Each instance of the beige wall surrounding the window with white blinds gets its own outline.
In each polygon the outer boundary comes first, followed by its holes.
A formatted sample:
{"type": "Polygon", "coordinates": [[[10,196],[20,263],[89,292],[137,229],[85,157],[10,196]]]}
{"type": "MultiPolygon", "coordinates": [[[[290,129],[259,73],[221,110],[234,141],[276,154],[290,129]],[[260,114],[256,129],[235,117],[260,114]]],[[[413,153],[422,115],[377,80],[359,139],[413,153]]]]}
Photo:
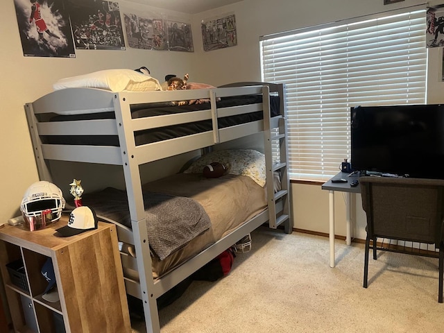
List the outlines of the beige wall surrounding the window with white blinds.
{"type": "MultiPolygon", "coordinates": [[[[440,1],[429,1],[433,4],[440,1]]],[[[384,6],[383,0],[244,0],[219,10],[194,15],[194,27],[217,15],[234,12],[236,15],[238,45],[227,49],[204,52],[202,41],[195,38],[198,53],[194,68],[200,78],[219,85],[229,81],[260,80],[259,37],[306,26],[336,22],[352,17],[372,15],[424,3],[406,0],[384,6]],[[254,7],[253,7],[254,6],[254,7]],[[253,9],[254,8],[254,9],[253,9]]],[[[442,3],[442,1],[441,1],[442,3]]],[[[425,8],[425,6],[424,6],[425,8]]],[[[195,33],[196,35],[196,33],[195,33]]],[[[441,82],[443,49],[429,49],[427,102],[444,103],[444,83],[441,82]]],[[[319,185],[291,185],[295,228],[328,233],[328,192],[319,185]]],[[[336,234],[345,235],[345,200],[343,194],[335,195],[336,234]]],[[[352,200],[354,237],[365,239],[365,213],[361,196],[352,200]]],[[[326,258],[327,259],[327,258],[326,258]]]]}

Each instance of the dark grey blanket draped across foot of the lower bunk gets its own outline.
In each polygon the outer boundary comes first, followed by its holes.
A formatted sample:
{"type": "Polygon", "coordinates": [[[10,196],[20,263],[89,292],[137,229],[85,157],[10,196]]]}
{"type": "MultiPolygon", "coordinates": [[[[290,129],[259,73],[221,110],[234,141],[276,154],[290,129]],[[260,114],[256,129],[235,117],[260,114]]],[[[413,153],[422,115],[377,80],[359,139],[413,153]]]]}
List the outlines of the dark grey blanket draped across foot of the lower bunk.
{"type": "MultiPolygon", "coordinates": [[[[82,202],[94,208],[96,214],[131,228],[126,191],[108,187],[83,195],[82,202]]],[[[144,203],[148,241],[160,260],[211,226],[210,217],[194,199],[144,191],[144,203]]]]}

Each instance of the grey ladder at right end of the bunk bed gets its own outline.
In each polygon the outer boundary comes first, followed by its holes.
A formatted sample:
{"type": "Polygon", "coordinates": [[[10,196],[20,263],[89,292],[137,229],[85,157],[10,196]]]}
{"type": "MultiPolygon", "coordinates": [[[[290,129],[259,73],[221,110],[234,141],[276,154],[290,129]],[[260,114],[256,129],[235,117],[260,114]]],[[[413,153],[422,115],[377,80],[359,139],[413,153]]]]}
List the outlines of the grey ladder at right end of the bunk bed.
{"type": "MultiPolygon", "coordinates": [[[[263,96],[269,94],[269,88],[263,87],[263,96]]],[[[285,96],[282,86],[280,96],[285,96]]],[[[291,234],[293,220],[290,216],[290,182],[287,169],[287,119],[285,101],[280,101],[280,116],[271,118],[270,99],[264,99],[264,151],[266,164],[266,183],[274,183],[274,174],[280,175],[281,188],[274,191],[273,185],[266,187],[268,201],[268,225],[276,229],[284,226],[284,231],[291,234]]]]}

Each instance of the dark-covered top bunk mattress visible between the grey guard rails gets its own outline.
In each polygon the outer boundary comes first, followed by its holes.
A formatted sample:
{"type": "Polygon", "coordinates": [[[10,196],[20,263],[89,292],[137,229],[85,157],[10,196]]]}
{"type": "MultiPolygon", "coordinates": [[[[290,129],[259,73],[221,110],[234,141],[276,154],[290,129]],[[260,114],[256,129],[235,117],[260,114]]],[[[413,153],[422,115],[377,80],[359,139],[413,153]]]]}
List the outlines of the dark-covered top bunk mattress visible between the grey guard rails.
{"type": "MultiPolygon", "coordinates": [[[[279,96],[270,96],[271,117],[276,117],[280,112],[279,96]]],[[[222,97],[216,102],[218,110],[223,108],[232,108],[240,105],[254,105],[262,103],[262,95],[230,96],[222,97]]],[[[130,112],[132,119],[157,117],[162,115],[183,114],[200,110],[209,110],[210,103],[174,105],[173,102],[159,103],[139,103],[131,104],[130,112]]],[[[47,115],[45,116],[47,117],[47,115]]],[[[60,115],[52,114],[49,121],[89,121],[99,119],[115,119],[114,111],[60,115]]],[[[230,126],[249,123],[263,119],[262,111],[254,111],[243,114],[234,114],[229,117],[219,117],[218,127],[227,128],[230,126]]],[[[80,126],[80,125],[79,125],[80,126]]],[[[148,130],[138,130],[135,132],[136,146],[151,144],[167,139],[184,137],[196,133],[204,133],[213,129],[212,120],[196,121],[192,123],[181,123],[179,125],[164,126],[148,130]]],[[[44,144],[71,144],[71,145],[90,145],[90,146],[119,146],[119,137],[117,135],[42,135],[40,136],[44,144]]]]}

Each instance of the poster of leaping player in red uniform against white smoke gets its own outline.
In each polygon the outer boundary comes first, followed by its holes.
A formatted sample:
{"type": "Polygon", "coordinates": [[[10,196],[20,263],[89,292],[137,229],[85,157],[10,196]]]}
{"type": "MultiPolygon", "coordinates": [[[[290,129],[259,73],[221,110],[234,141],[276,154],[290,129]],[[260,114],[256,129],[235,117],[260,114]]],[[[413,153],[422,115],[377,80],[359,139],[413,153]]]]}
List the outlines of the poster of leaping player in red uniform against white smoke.
{"type": "Polygon", "coordinates": [[[14,0],[24,56],[75,58],[62,0],[14,0]]]}

